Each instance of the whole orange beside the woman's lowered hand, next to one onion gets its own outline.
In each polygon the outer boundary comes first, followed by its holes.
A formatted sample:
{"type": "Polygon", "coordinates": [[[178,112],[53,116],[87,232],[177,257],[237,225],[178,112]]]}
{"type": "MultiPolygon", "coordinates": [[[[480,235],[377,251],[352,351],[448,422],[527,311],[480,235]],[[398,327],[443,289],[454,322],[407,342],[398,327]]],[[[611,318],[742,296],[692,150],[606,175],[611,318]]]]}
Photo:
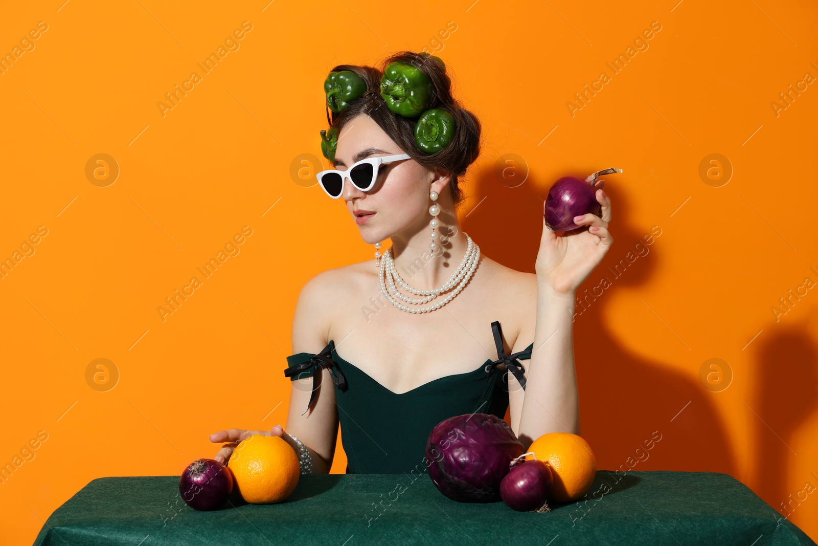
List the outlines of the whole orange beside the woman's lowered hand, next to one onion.
{"type": "Polygon", "coordinates": [[[242,440],[227,461],[241,498],[248,503],[278,503],[299,483],[295,450],[279,436],[254,434],[242,440]]]}

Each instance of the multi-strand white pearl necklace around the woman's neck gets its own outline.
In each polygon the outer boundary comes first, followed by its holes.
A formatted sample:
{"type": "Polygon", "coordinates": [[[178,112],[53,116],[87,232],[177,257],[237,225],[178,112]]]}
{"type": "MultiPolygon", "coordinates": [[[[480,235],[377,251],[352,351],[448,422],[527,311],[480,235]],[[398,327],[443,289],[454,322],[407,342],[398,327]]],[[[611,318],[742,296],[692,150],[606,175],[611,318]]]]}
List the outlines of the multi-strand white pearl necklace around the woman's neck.
{"type": "Polygon", "coordinates": [[[452,273],[452,277],[449,278],[447,282],[443,283],[443,286],[440,288],[432,289],[432,290],[418,290],[415,287],[410,287],[409,284],[404,281],[400,275],[398,275],[398,271],[395,269],[395,262],[392,257],[392,249],[386,250],[384,252],[384,256],[380,259],[380,273],[379,273],[379,280],[380,280],[380,291],[384,293],[386,299],[389,302],[401,309],[402,311],[407,311],[407,313],[429,313],[429,311],[434,311],[435,309],[440,309],[443,305],[446,305],[452,298],[457,296],[463,287],[465,287],[466,283],[469,282],[469,279],[474,274],[474,270],[477,268],[477,264],[480,259],[480,247],[477,246],[474,241],[472,241],[471,237],[467,233],[463,233],[465,235],[465,239],[467,242],[465,255],[463,256],[463,260],[461,264],[457,267],[456,271],[452,273]],[[385,279],[385,280],[384,280],[385,279]],[[424,296],[422,298],[411,298],[409,296],[403,295],[401,292],[398,291],[398,288],[395,287],[395,282],[405,288],[408,291],[411,291],[412,294],[416,296],[424,296]],[[393,292],[395,296],[398,296],[403,301],[406,301],[410,304],[425,304],[431,300],[434,300],[436,297],[440,296],[441,292],[448,291],[455,288],[451,294],[446,296],[443,301],[440,301],[435,304],[427,305],[426,307],[409,307],[408,305],[403,305],[398,300],[395,300],[390,294],[389,291],[386,289],[386,285],[389,283],[389,290],[393,292]]]}

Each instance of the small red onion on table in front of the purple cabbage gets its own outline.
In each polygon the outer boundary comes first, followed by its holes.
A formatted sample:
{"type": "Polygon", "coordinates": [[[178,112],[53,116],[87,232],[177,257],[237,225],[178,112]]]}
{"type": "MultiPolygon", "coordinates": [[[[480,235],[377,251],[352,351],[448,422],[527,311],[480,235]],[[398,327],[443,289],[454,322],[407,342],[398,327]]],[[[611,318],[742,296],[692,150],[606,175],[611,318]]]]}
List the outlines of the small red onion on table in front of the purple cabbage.
{"type": "MultiPolygon", "coordinates": [[[[525,457],[528,453],[520,455],[525,457]]],[[[511,462],[515,465],[519,458],[511,462]]],[[[551,467],[536,458],[512,466],[500,482],[500,496],[510,508],[520,512],[533,510],[550,512],[546,501],[551,497],[551,467]]]]}

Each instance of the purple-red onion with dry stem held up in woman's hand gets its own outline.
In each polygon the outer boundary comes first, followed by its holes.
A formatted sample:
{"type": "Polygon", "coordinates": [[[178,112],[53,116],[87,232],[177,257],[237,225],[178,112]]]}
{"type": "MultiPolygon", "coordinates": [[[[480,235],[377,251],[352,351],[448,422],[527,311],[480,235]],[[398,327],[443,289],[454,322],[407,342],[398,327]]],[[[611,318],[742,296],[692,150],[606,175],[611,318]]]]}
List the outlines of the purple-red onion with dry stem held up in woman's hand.
{"type": "Polygon", "coordinates": [[[602,213],[602,205],[596,201],[594,183],[603,174],[621,173],[622,169],[605,169],[591,174],[585,180],[565,176],[557,180],[548,190],[546,202],[543,205],[543,214],[546,224],[555,232],[569,231],[578,228],[573,223],[574,216],[582,214],[602,213]]]}

